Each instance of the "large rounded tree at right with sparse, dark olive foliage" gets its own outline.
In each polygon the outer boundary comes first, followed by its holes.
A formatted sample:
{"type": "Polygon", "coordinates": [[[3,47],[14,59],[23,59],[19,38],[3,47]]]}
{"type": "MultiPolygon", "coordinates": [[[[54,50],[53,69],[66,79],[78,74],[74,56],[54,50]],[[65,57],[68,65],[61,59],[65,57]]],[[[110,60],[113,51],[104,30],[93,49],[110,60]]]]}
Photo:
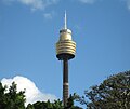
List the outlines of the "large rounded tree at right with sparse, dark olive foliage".
{"type": "Polygon", "coordinates": [[[86,104],[88,109],[130,109],[130,71],[110,76],[84,95],[78,97],[78,101],[86,104]]]}

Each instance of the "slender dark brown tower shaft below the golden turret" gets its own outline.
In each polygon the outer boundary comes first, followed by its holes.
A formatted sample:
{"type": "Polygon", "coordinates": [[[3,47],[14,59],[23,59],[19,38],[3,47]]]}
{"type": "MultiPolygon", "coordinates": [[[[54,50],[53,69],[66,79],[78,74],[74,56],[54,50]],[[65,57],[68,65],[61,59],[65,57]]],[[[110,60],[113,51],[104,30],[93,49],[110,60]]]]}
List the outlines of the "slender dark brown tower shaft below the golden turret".
{"type": "Polygon", "coordinates": [[[68,59],[63,60],[63,105],[67,106],[67,99],[68,99],[68,59]]]}

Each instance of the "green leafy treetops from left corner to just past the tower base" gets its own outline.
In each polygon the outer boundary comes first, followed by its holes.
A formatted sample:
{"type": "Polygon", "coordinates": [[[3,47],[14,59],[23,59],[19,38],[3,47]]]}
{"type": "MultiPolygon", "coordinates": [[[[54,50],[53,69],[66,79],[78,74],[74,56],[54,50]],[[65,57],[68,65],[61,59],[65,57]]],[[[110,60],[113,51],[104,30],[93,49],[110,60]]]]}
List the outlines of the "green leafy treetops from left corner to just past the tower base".
{"type": "Polygon", "coordinates": [[[48,101],[37,101],[35,104],[28,104],[25,107],[25,91],[17,92],[16,84],[13,82],[9,87],[3,86],[0,82],[0,109],[82,109],[78,106],[74,106],[74,97],[68,98],[67,107],[63,107],[60,99],[53,103],[48,101]]]}

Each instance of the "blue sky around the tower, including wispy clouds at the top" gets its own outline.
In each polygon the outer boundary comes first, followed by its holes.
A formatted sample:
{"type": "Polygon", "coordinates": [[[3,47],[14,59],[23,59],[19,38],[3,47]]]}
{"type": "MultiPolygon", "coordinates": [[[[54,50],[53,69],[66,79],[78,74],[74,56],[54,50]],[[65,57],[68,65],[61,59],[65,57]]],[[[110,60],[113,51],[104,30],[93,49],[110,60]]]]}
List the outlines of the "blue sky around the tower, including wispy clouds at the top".
{"type": "Polygon", "coordinates": [[[55,43],[65,10],[77,43],[70,93],[82,95],[108,76],[130,70],[130,0],[0,0],[0,79],[26,77],[62,98],[55,43]]]}

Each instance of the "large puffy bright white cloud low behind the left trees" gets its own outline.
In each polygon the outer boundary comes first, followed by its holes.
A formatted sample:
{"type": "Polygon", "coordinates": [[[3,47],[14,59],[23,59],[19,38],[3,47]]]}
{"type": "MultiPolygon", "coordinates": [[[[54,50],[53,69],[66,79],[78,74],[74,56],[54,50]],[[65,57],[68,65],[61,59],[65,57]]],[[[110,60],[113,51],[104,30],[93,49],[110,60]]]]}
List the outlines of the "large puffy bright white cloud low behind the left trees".
{"type": "Polygon", "coordinates": [[[51,101],[53,101],[54,99],[57,99],[55,95],[40,92],[40,90],[35,85],[35,83],[25,77],[16,76],[13,79],[3,78],[1,80],[1,83],[3,85],[8,85],[8,87],[11,86],[12,82],[15,82],[17,84],[17,92],[25,90],[25,105],[29,103],[34,104],[38,100],[47,101],[48,99],[50,99],[51,101]]]}

